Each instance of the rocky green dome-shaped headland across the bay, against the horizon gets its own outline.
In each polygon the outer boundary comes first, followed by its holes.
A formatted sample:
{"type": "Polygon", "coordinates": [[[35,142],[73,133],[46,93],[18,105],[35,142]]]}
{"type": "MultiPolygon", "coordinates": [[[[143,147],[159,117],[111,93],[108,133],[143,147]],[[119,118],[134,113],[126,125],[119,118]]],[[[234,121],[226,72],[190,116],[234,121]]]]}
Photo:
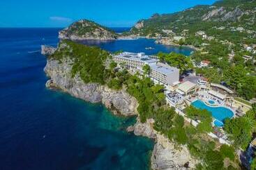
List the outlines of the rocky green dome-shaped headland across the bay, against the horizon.
{"type": "Polygon", "coordinates": [[[63,40],[114,40],[116,33],[95,22],[83,19],[60,31],[59,38],[63,40]]]}

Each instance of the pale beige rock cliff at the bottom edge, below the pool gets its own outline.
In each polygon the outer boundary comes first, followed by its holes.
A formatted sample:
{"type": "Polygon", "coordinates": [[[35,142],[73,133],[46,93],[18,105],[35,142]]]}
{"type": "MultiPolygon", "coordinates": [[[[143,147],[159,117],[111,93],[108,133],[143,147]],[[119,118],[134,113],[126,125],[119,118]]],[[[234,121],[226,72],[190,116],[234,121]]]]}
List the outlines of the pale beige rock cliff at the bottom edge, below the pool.
{"type": "Polygon", "coordinates": [[[151,155],[151,169],[153,170],[183,170],[195,169],[197,160],[193,159],[186,146],[175,146],[167,137],[153,130],[153,119],[142,124],[140,120],[134,126],[128,127],[128,132],[135,135],[155,139],[156,144],[151,155]]]}

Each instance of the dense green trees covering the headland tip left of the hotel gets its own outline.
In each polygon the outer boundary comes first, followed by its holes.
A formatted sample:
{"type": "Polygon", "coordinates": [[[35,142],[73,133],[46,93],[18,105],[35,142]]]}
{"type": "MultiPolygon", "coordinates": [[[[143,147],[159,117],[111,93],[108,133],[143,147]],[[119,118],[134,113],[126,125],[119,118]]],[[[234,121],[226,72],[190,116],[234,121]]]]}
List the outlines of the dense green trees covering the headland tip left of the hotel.
{"type": "Polygon", "coordinates": [[[96,46],[84,46],[65,40],[49,58],[62,61],[66,56],[74,63],[71,74],[73,76],[78,74],[84,83],[104,84],[110,74],[110,71],[105,68],[105,60],[110,57],[110,54],[96,46]]]}

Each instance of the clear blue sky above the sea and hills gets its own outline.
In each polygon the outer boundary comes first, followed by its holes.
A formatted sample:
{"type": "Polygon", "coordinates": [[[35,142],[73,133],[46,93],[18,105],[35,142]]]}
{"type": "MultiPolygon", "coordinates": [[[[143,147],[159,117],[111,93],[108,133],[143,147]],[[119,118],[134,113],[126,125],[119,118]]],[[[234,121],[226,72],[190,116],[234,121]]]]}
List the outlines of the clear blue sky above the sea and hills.
{"type": "Polygon", "coordinates": [[[1,0],[0,27],[65,27],[78,19],[133,26],[153,13],[172,13],[216,0],[1,0]]]}

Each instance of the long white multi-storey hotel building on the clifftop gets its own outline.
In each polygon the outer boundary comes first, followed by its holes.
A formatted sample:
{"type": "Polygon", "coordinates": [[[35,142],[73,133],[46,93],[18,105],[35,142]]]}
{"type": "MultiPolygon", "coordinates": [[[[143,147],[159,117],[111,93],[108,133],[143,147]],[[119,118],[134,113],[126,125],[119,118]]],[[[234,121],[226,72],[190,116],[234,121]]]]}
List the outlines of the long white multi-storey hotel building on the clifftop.
{"type": "Polygon", "coordinates": [[[131,71],[142,73],[144,65],[151,67],[149,76],[157,83],[164,85],[175,85],[179,83],[179,69],[170,67],[156,58],[156,56],[146,56],[145,53],[123,52],[113,56],[114,62],[124,65],[131,71]]]}

